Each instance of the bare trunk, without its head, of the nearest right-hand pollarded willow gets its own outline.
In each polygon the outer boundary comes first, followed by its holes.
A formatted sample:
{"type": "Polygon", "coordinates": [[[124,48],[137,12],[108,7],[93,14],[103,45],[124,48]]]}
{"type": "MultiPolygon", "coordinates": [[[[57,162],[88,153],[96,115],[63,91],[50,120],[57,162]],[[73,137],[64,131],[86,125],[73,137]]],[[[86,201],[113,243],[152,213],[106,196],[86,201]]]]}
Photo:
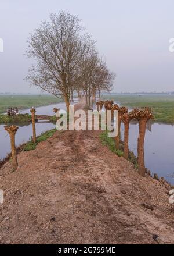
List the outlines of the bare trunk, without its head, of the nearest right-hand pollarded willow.
{"type": "Polygon", "coordinates": [[[145,175],[145,163],[144,163],[144,137],[146,133],[146,123],[147,119],[139,120],[139,138],[137,145],[137,154],[138,154],[138,166],[139,166],[139,174],[145,175]]]}

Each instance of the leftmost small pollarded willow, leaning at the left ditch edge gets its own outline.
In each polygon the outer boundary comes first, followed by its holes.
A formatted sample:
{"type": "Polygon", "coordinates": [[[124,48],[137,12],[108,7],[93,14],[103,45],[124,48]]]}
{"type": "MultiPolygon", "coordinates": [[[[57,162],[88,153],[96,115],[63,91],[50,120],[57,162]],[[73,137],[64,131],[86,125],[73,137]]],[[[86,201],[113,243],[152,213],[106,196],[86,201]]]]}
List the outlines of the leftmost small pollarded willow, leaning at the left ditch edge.
{"type": "Polygon", "coordinates": [[[15,146],[15,134],[19,127],[16,125],[12,126],[4,126],[5,130],[8,132],[10,136],[10,143],[12,148],[12,158],[13,158],[13,171],[17,169],[17,156],[16,156],[16,146],[15,146]]]}

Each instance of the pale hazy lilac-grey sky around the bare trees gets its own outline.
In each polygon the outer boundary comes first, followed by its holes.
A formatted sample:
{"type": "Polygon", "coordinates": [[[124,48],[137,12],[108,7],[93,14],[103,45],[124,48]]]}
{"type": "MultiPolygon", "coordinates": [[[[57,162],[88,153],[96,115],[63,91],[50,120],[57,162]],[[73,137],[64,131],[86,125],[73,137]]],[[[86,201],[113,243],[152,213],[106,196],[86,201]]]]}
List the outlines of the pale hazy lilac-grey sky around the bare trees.
{"type": "Polygon", "coordinates": [[[0,0],[0,92],[36,93],[24,77],[28,34],[49,13],[82,19],[107,66],[117,74],[113,91],[174,91],[173,0],[0,0]]]}

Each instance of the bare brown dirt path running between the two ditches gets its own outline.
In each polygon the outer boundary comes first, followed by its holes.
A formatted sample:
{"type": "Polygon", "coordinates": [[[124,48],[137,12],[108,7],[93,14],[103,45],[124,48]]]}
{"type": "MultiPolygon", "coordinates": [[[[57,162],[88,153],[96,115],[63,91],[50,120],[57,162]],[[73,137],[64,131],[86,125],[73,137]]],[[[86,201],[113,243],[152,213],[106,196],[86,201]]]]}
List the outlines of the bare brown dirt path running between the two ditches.
{"type": "Polygon", "coordinates": [[[110,152],[98,131],[57,131],[18,161],[16,172],[10,162],[0,170],[1,244],[151,244],[154,234],[174,243],[168,190],[110,152]]]}

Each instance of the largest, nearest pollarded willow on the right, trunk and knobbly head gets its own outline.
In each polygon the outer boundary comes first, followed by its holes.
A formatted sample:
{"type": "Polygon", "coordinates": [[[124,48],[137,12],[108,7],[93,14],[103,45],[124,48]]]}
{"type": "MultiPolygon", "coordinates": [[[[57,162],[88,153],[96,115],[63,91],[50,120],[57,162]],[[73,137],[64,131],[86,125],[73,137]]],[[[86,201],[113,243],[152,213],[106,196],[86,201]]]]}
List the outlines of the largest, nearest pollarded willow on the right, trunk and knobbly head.
{"type": "Polygon", "coordinates": [[[138,154],[138,166],[139,174],[145,175],[145,163],[144,163],[144,138],[146,134],[146,124],[149,119],[153,119],[153,113],[151,108],[133,109],[132,111],[135,118],[139,121],[139,137],[137,143],[138,154]]]}

